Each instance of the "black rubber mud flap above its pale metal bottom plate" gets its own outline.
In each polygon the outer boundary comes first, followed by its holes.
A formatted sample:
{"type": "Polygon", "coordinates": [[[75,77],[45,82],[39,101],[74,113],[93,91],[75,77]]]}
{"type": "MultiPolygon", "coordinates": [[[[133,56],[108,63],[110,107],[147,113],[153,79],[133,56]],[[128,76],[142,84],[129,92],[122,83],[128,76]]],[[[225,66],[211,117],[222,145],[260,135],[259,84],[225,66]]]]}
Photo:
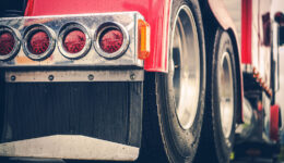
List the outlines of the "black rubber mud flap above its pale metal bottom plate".
{"type": "Polygon", "coordinates": [[[1,143],[83,135],[140,147],[142,82],[2,83],[1,143]]]}

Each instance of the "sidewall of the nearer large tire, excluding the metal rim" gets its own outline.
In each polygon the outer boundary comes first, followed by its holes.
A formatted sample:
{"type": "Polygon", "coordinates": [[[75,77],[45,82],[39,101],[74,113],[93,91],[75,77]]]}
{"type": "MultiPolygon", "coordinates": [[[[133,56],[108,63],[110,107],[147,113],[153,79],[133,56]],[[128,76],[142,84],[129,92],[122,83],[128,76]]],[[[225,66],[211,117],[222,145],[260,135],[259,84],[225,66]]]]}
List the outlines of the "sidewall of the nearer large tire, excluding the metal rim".
{"type": "MultiPolygon", "coordinates": [[[[197,32],[198,32],[198,40],[199,40],[199,49],[200,49],[200,71],[202,72],[200,76],[200,96],[198,101],[198,111],[196,115],[196,120],[192,126],[189,129],[184,129],[176,114],[176,102],[175,102],[175,90],[173,87],[171,75],[173,72],[168,72],[168,74],[162,74],[157,76],[157,93],[164,93],[165,99],[161,99],[162,106],[158,109],[161,113],[161,125],[164,128],[162,130],[162,135],[164,135],[164,143],[166,148],[167,155],[169,155],[169,160],[171,162],[185,162],[192,161],[197,151],[203,112],[204,112],[204,98],[205,98],[205,48],[204,48],[204,34],[203,34],[203,25],[201,18],[201,11],[199,9],[198,1],[185,1],[185,0],[174,0],[171,8],[171,18],[170,18],[170,32],[169,32],[169,40],[171,40],[171,33],[174,29],[175,17],[180,7],[188,5],[191,10],[191,13],[196,21],[197,32]]],[[[168,70],[171,70],[173,66],[170,64],[171,60],[171,41],[169,41],[168,46],[168,70]]]]}

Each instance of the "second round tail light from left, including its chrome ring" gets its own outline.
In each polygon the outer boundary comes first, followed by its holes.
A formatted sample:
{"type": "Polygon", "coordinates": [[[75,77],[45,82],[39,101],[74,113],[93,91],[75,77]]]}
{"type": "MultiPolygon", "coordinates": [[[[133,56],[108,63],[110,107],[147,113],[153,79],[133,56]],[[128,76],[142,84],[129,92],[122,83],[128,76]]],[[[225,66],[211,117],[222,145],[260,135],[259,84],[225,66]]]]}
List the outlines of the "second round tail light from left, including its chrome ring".
{"type": "Polygon", "coordinates": [[[55,50],[55,34],[44,25],[34,25],[24,35],[25,54],[36,61],[47,59],[55,50]]]}

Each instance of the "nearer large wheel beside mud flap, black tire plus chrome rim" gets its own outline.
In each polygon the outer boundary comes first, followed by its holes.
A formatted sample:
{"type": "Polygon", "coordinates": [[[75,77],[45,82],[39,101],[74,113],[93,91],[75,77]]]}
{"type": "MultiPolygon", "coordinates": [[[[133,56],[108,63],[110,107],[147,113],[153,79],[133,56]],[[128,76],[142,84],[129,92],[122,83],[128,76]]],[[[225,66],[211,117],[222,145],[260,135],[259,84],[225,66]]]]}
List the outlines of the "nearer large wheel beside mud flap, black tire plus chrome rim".
{"type": "Polygon", "coordinates": [[[147,153],[143,156],[147,161],[140,162],[182,163],[194,158],[205,98],[201,22],[198,1],[174,0],[168,73],[145,77],[141,155],[147,153]],[[155,84],[154,88],[151,84],[155,84]],[[154,99],[155,104],[151,105],[154,99]]]}

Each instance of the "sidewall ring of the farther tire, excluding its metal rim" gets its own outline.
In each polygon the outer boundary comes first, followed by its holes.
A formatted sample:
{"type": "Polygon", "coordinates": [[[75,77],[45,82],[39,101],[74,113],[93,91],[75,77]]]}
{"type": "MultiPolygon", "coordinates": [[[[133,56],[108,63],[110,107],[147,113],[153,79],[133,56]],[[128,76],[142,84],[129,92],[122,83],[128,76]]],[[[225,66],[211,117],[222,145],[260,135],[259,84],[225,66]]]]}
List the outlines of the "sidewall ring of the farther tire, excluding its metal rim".
{"type": "Polygon", "coordinates": [[[216,33],[214,41],[214,51],[213,51],[213,70],[212,70],[212,120],[213,120],[213,134],[215,141],[215,150],[217,159],[220,162],[227,163],[229,162],[230,152],[233,150],[233,145],[235,140],[235,124],[236,124],[236,109],[237,109],[237,80],[236,80],[236,63],[234,57],[233,43],[229,38],[229,35],[218,29],[216,33]],[[227,51],[229,53],[229,59],[232,63],[232,75],[233,75],[233,90],[234,90],[234,116],[232,124],[232,131],[228,138],[223,134],[222,123],[221,123],[221,106],[220,106],[220,93],[217,82],[217,75],[220,72],[220,62],[222,61],[223,53],[227,51]]]}

